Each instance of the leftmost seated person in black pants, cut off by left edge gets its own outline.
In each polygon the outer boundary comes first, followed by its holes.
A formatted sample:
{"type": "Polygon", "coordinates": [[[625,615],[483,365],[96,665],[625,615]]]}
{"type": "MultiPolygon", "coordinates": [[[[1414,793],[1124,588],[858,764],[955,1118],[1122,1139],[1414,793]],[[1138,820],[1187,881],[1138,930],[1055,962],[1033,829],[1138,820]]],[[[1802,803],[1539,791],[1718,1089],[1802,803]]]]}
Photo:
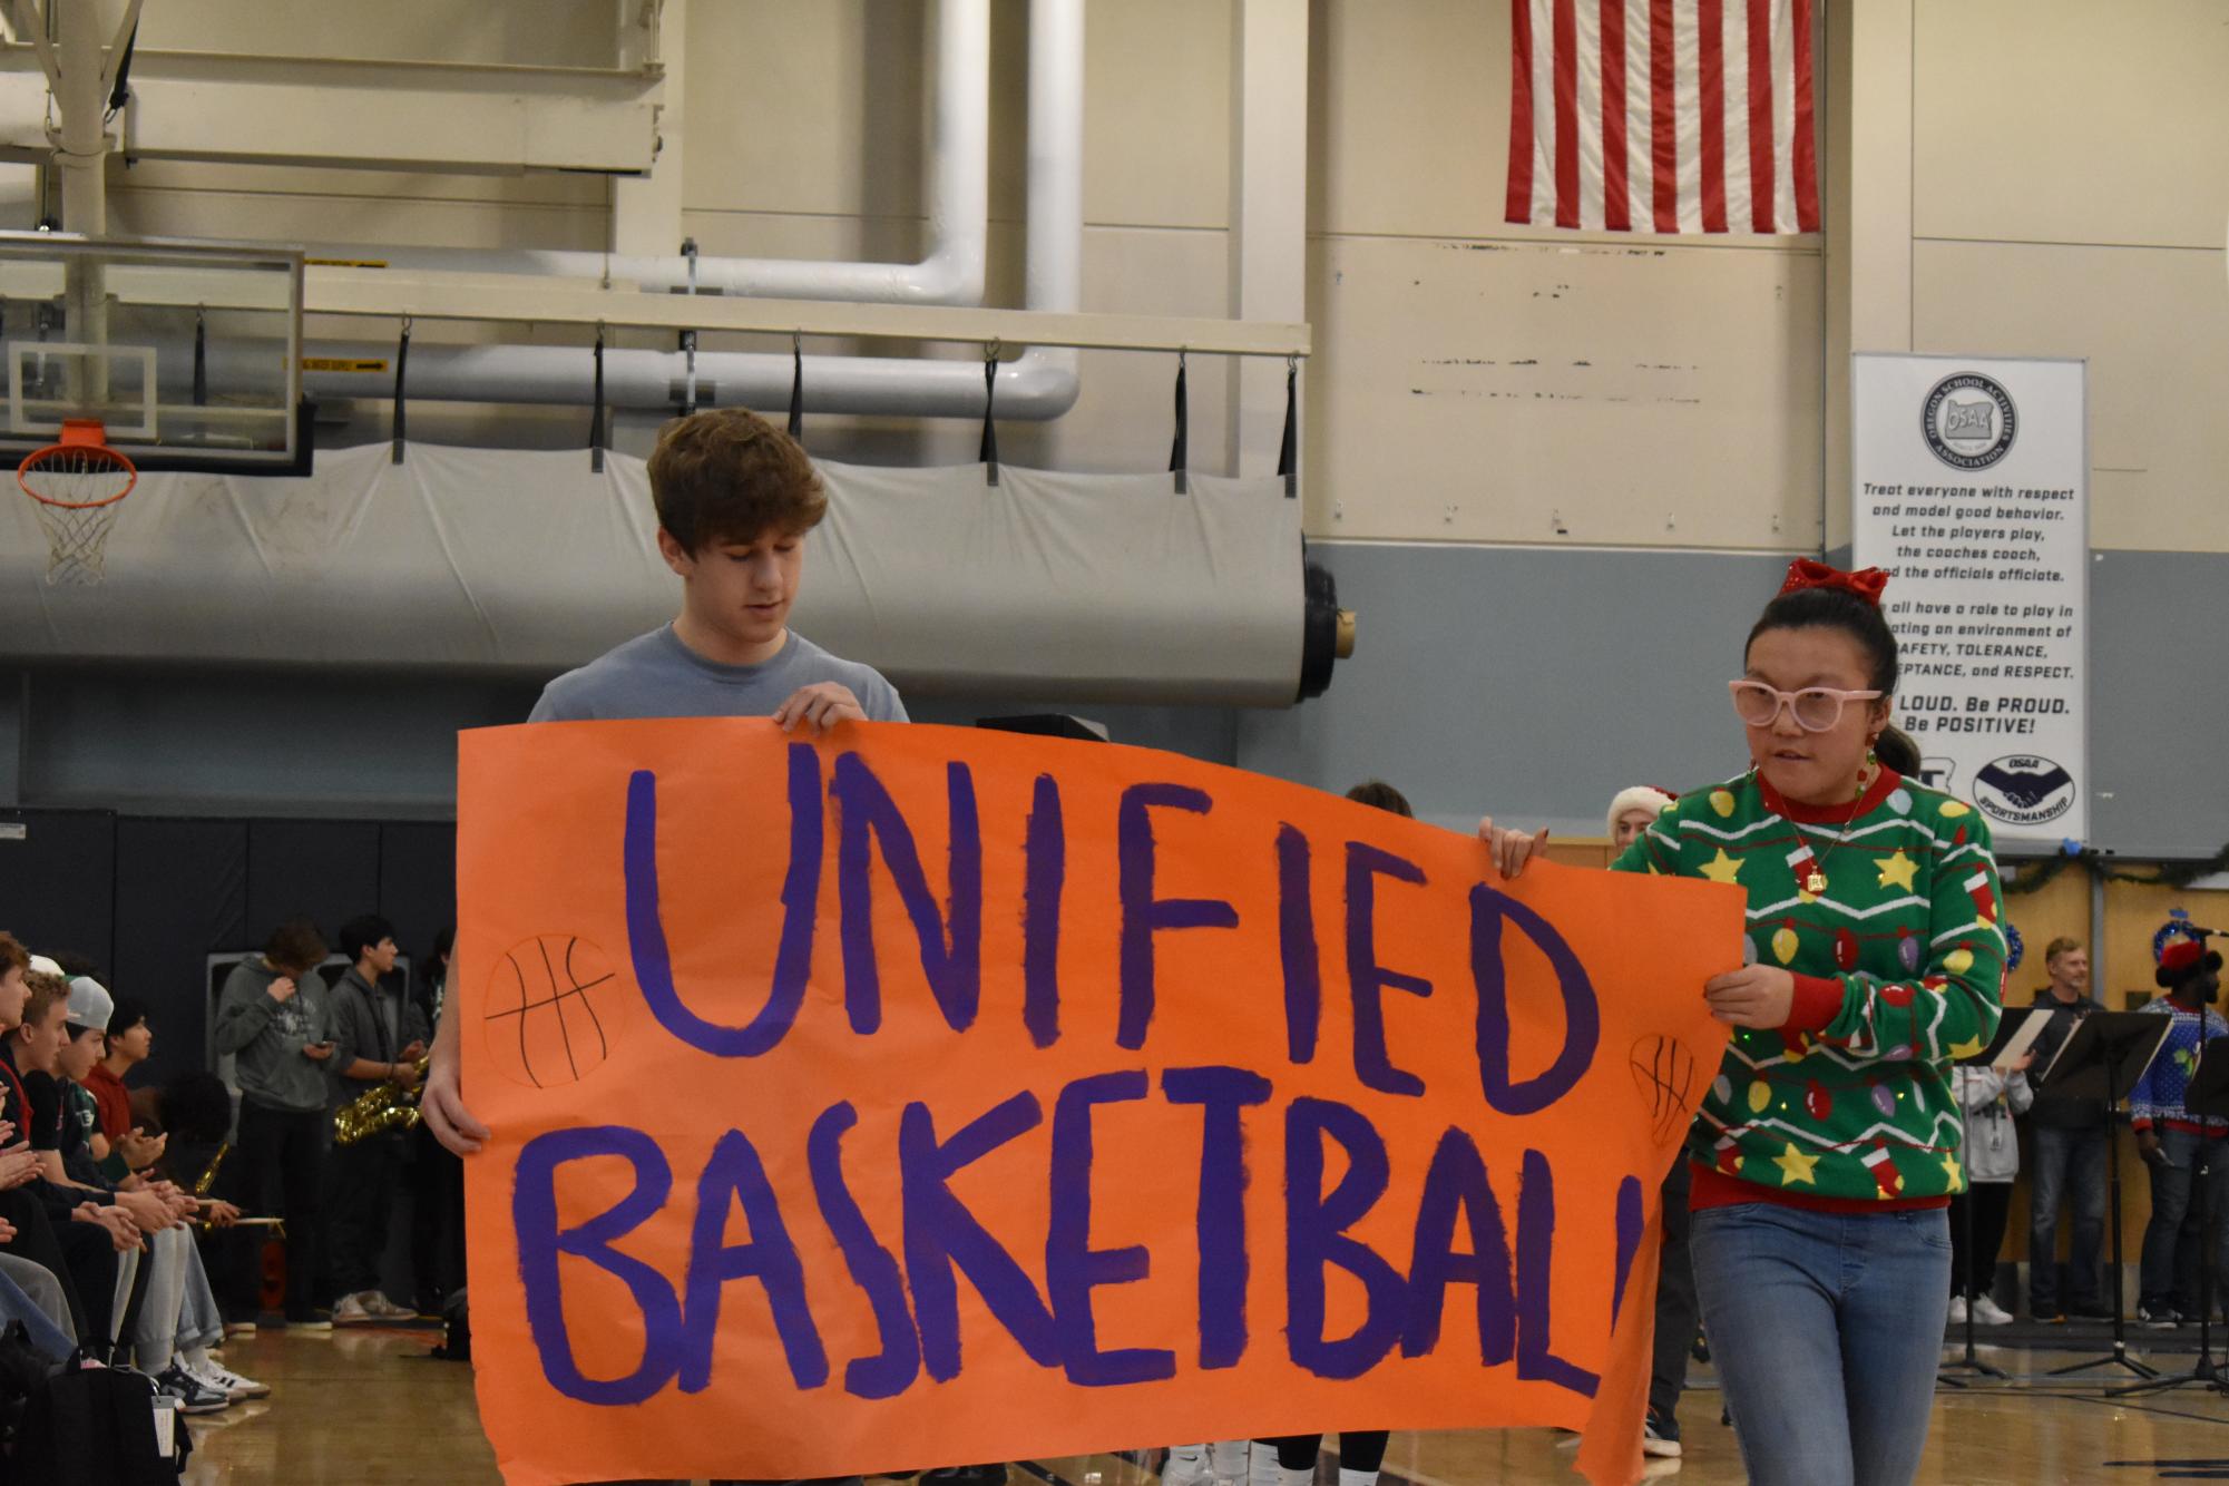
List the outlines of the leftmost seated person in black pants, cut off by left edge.
{"type": "MultiPolygon", "coordinates": [[[[132,1281],[138,1277],[138,1223],[118,1208],[47,1181],[47,1152],[60,1143],[60,1101],[31,1107],[31,1081],[40,1063],[51,1063],[62,1036],[67,987],[51,971],[25,974],[33,960],[13,938],[0,936],[0,1125],[11,1138],[29,1138],[29,1150],[0,1156],[9,1187],[0,1203],[13,1236],[9,1252],[53,1272],[78,1339],[96,1357],[116,1341],[132,1281]],[[18,1170],[29,1163],[29,1170],[18,1170]]],[[[47,960],[51,965],[51,960],[47,960]]]]}

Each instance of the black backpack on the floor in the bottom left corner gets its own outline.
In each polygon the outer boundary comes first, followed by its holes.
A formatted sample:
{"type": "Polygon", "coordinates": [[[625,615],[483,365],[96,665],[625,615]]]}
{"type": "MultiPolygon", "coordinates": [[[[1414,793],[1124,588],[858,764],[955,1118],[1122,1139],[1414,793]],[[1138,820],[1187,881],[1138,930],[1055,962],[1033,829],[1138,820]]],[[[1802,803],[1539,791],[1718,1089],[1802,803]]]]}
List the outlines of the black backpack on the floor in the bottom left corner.
{"type": "Polygon", "coordinates": [[[156,1448],[154,1379],[71,1359],[25,1404],[16,1468],[42,1486],[172,1486],[192,1450],[172,1417],[172,1453],[156,1448]]]}

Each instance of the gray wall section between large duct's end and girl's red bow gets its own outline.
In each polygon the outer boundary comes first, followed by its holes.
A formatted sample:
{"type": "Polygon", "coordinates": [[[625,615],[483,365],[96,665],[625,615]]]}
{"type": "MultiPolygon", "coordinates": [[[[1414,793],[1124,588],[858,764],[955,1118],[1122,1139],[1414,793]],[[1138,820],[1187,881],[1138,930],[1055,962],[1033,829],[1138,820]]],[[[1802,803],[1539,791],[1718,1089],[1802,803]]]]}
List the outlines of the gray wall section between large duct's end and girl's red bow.
{"type": "Polygon", "coordinates": [[[1360,615],[1353,659],[1291,713],[1239,717],[1239,766],[1344,791],[1382,778],[1469,829],[1603,833],[1627,784],[1745,766],[1725,680],[1785,557],[1311,544],[1360,615]]]}

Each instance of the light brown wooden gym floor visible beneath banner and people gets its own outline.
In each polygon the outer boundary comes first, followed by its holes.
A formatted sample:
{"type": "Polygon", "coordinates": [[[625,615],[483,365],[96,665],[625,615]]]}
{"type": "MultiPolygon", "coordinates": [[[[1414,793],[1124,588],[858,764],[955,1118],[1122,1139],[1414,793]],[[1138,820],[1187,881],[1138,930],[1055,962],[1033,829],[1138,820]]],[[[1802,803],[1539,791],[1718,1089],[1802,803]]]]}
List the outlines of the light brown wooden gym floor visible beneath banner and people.
{"type": "MultiPolygon", "coordinates": [[[[272,1384],[272,1397],[192,1421],[192,1486],[218,1482],[424,1482],[495,1484],[495,1457],[479,1433],[468,1368],[428,1361],[430,1330],[350,1328],[332,1335],[263,1332],[234,1339],[225,1361],[272,1384]]],[[[2135,1348],[2158,1337],[2135,1332],[2135,1348]]],[[[2196,1339],[2153,1357],[2189,1368],[2196,1339]]],[[[2102,1348],[2097,1348],[2102,1350],[2102,1348]]],[[[1930,1486],[2035,1486],[2046,1482],[2229,1482],[2229,1399],[2196,1386],[2140,1399],[2106,1399],[2113,1370],[2044,1379],[2062,1361],[2097,1350],[1984,1348],[2015,1375],[1966,1392],[1941,1390],[1919,1482],[1930,1486]],[[2031,1381],[2033,1379],[2033,1381],[2031,1381]]],[[[2142,1355],[2142,1352],[2138,1352],[2142,1355]]],[[[1950,1357],[1950,1352],[1946,1352],[1950,1357]]],[[[1719,1395],[1707,1368],[1681,1404],[1687,1455],[1656,1461],[1658,1475],[1692,1486],[1741,1482],[1732,1430],[1719,1426],[1719,1395]]],[[[1571,1455],[1551,1430],[1469,1430],[1395,1435],[1386,1486],[1502,1486],[1567,1482],[1571,1455]]],[[[1152,1486],[1126,1459],[1036,1461],[1012,1473],[1014,1486],[1152,1486]]],[[[1335,1479],[1335,1477],[1333,1477],[1335,1479]]]]}

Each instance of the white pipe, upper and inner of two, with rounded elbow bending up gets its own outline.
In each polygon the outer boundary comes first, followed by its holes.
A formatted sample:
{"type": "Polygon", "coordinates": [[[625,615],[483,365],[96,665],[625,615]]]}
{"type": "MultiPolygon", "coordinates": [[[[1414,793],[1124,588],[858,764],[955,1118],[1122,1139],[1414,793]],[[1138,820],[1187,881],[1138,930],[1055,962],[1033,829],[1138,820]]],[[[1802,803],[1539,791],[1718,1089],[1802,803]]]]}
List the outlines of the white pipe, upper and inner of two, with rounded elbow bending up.
{"type": "MultiPolygon", "coordinates": [[[[1081,45],[1079,29],[1079,51],[1081,45]]],[[[1077,71],[1081,76],[1081,67],[1077,71]]],[[[366,247],[363,243],[321,243],[308,252],[312,258],[379,258],[392,267],[450,274],[640,283],[653,292],[687,290],[693,283],[698,292],[756,299],[981,305],[990,241],[990,0],[941,0],[936,7],[936,107],[929,123],[927,198],[932,247],[921,263],[700,256],[691,270],[691,261],[682,254],[642,258],[533,247],[366,247]]]]}

